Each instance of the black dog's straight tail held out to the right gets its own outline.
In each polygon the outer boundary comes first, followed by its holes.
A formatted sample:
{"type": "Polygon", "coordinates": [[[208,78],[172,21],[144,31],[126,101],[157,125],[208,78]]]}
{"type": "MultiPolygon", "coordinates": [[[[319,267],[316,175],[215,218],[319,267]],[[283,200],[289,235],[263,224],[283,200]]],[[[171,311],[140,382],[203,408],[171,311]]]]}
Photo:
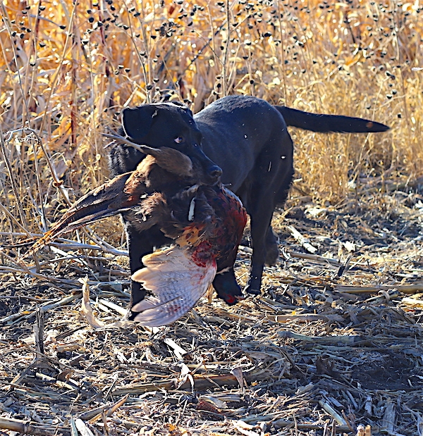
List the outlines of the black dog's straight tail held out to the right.
{"type": "Polygon", "coordinates": [[[386,132],[387,125],[364,118],[343,115],[326,115],[298,111],[286,106],[275,106],[282,114],[286,125],[312,132],[386,132]]]}

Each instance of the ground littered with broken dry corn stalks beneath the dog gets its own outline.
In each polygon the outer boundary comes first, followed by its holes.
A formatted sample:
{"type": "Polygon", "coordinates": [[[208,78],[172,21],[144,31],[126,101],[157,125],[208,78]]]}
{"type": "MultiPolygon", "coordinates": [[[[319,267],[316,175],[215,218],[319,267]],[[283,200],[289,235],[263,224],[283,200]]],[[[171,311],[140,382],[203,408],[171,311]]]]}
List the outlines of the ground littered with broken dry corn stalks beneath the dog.
{"type": "MultiPolygon", "coordinates": [[[[4,274],[0,435],[423,435],[419,188],[288,201],[262,296],[202,299],[166,328],[122,320],[123,256],[63,249],[40,278],[4,274]]],[[[241,282],[249,263],[246,237],[241,282]]]]}

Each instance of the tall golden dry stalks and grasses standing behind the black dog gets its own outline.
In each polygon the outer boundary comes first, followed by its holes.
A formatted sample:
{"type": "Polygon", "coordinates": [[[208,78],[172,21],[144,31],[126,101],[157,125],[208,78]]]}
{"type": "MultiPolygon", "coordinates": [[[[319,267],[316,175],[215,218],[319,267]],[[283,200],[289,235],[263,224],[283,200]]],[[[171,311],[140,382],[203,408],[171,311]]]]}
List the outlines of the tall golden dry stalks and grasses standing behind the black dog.
{"type": "Polygon", "coordinates": [[[100,134],[121,108],[164,94],[194,111],[253,94],[392,127],[293,132],[314,199],[342,200],[363,177],[422,175],[418,2],[5,0],[1,15],[0,230],[47,230],[108,176],[100,134]]]}

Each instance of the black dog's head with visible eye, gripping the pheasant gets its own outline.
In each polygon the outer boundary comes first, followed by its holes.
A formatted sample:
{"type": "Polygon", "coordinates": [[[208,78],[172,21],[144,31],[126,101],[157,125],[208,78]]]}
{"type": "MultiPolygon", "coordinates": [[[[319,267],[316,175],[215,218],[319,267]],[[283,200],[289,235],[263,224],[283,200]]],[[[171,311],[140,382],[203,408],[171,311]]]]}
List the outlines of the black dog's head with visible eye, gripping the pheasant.
{"type": "Polygon", "coordinates": [[[206,185],[218,182],[221,168],[202,151],[202,135],[192,118],[192,112],[183,104],[144,104],[137,108],[125,108],[122,114],[125,134],[137,144],[150,147],[169,147],[188,156],[194,166],[202,169],[206,185]]]}

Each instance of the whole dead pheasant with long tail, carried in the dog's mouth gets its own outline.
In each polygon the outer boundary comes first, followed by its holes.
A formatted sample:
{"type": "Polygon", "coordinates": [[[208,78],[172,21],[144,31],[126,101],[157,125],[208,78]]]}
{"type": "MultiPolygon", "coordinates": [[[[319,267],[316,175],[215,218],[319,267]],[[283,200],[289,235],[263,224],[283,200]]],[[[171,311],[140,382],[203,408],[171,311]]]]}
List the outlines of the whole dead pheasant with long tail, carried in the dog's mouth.
{"type": "MultiPolygon", "coordinates": [[[[173,247],[142,258],[133,274],[154,296],[131,310],[148,326],[173,323],[187,313],[214,280],[233,267],[247,215],[238,197],[223,187],[202,185],[202,170],[176,149],[144,147],[147,156],[135,171],[114,177],[85,194],[30,249],[95,220],[126,213],[137,228],[158,225],[173,247]]],[[[242,294],[218,293],[228,304],[242,294]]]]}

